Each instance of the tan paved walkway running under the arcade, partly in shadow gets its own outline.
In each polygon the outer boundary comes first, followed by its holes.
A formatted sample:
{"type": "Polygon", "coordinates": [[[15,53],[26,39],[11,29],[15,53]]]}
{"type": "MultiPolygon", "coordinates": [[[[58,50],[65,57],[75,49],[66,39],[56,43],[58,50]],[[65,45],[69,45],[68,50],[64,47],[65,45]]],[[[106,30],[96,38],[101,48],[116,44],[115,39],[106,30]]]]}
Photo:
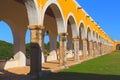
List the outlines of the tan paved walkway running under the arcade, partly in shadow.
{"type": "MultiPolygon", "coordinates": [[[[89,60],[88,58],[86,60],[89,60]]],[[[72,66],[75,64],[79,64],[85,60],[80,60],[79,62],[75,62],[73,58],[67,59],[67,66],[72,66]]],[[[50,70],[52,72],[60,71],[61,69],[65,69],[65,66],[60,66],[59,61],[48,61],[42,64],[42,70],[50,70]]],[[[26,67],[16,67],[8,70],[0,71],[0,80],[30,80],[26,79],[27,74],[30,72],[30,66],[26,67]]]]}

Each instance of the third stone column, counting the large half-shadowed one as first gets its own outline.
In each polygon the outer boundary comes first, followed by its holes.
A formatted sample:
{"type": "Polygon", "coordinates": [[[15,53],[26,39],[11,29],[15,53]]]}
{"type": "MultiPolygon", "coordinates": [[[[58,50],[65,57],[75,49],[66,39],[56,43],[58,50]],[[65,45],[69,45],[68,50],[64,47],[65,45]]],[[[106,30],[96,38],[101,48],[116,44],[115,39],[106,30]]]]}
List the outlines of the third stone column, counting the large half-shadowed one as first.
{"type": "Polygon", "coordinates": [[[79,37],[74,37],[74,60],[79,61],[79,37]]]}

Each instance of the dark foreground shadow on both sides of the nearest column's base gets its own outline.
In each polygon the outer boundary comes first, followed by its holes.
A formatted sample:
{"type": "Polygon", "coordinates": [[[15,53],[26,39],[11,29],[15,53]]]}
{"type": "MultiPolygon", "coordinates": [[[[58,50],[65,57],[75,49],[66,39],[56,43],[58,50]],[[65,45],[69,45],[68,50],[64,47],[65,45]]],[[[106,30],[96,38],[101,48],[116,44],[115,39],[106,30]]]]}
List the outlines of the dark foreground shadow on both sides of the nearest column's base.
{"type": "MultiPolygon", "coordinates": [[[[0,71],[0,80],[31,80],[27,75],[18,75],[0,71]]],[[[102,75],[91,73],[58,72],[50,73],[40,80],[120,80],[120,75],[102,75]]]]}

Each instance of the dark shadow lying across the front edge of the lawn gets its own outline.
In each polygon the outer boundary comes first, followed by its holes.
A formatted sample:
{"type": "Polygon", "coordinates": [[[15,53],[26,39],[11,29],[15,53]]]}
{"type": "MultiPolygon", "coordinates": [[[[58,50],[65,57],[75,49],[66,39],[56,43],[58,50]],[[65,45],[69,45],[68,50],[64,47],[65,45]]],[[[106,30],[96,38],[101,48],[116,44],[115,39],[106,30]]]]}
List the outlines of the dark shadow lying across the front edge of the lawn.
{"type": "Polygon", "coordinates": [[[59,72],[49,74],[41,80],[120,80],[120,75],[59,72]]]}

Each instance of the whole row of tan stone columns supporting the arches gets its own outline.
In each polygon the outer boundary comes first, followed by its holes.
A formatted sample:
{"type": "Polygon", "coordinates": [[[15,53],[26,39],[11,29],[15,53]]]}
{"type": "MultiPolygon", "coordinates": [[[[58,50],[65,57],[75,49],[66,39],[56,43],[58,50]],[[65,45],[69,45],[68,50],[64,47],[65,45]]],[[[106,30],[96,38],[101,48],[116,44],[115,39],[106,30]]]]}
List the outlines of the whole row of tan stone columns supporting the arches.
{"type": "MultiPolygon", "coordinates": [[[[31,70],[30,73],[34,76],[41,75],[41,46],[44,34],[44,27],[40,25],[30,25],[29,29],[31,31],[31,70]]],[[[66,50],[67,50],[67,33],[59,34],[60,37],[60,47],[59,47],[59,64],[60,66],[67,66],[66,63],[66,50]]],[[[93,40],[88,41],[87,39],[82,40],[83,50],[82,58],[79,56],[79,37],[74,37],[74,61],[79,62],[80,60],[85,60],[86,58],[94,58],[97,56],[104,55],[113,51],[113,46],[102,44],[101,42],[93,42],[93,40]],[[88,41],[88,43],[87,43],[88,41]],[[89,44],[89,47],[88,47],[89,44]],[[88,49],[87,49],[88,47],[88,49]]]]}

